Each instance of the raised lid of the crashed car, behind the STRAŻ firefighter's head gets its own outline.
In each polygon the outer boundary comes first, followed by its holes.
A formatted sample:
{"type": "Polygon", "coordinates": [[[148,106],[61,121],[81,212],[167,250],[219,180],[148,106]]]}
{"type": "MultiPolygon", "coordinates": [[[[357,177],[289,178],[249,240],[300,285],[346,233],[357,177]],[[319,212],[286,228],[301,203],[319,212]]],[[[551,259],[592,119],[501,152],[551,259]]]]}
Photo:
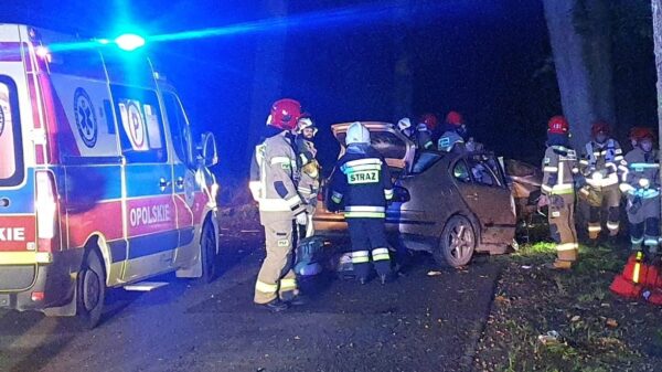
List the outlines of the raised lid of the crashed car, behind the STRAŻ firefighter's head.
{"type": "MultiPolygon", "coordinates": [[[[339,158],[345,152],[345,136],[352,123],[340,123],[331,126],[333,136],[340,144],[339,158]]],[[[370,130],[372,147],[380,151],[389,167],[409,170],[414,162],[414,142],[396,130],[391,123],[361,121],[361,124],[370,130]]]]}

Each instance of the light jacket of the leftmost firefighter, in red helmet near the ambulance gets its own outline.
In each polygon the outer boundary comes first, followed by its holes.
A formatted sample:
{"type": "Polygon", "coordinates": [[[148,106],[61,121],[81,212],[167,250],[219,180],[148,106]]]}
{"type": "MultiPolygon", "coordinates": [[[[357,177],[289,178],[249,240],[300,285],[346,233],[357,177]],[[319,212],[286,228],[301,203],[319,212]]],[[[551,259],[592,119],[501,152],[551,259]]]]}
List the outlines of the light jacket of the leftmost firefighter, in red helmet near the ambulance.
{"type": "Polygon", "coordinates": [[[259,203],[263,223],[292,220],[303,212],[297,191],[297,157],[287,131],[267,138],[255,148],[250,170],[250,193],[259,203]]]}

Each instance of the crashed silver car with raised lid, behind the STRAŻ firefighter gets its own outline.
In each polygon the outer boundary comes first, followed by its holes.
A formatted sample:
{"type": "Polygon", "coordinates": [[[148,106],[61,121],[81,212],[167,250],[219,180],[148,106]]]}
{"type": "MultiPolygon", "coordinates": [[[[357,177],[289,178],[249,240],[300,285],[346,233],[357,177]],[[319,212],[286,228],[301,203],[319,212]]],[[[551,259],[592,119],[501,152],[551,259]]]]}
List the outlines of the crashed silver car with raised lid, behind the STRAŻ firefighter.
{"type": "MultiPolygon", "coordinates": [[[[394,202],[386,212],[393,245],[428,251],[439,264],[453,267],[467,265],[474,252],[508,249],[515,235],[515,204],[499,159],[487,152],[418,152],[392,124],[363,124],[394,178],[394,202]]],[[[349,126],[332,126],[341,145],[339,158],[349,126]]],[[[324,208],[324,193],[313,216],[317,234],[346,234],[342,212],[324,208]]]]}

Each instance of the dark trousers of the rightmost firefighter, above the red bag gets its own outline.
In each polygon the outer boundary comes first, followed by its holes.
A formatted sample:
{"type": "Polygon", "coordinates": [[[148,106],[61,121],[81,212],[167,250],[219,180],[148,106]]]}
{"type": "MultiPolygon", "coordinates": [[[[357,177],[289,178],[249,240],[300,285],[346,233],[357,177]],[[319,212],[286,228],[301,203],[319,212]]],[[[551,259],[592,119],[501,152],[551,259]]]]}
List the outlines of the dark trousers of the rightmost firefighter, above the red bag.
{"type": "Polygon", "coordinates": [[[645,245],[650,253],[659,252],[660,245],[660,196],[636,200],[628,195],[628,220],[630,242],[633,251],[645,245]]]}

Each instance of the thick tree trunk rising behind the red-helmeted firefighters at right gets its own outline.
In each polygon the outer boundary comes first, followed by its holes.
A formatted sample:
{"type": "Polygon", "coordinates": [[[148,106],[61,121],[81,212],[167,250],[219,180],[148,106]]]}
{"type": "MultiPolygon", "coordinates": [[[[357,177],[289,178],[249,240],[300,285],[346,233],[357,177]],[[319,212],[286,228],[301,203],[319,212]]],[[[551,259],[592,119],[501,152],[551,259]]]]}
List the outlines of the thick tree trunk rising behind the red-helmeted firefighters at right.
{"type": "Polygon", "coordinates": [[[608,0],[544,0],[563,113],[576,149],[595,120],[615,124],[608,0]]]}

